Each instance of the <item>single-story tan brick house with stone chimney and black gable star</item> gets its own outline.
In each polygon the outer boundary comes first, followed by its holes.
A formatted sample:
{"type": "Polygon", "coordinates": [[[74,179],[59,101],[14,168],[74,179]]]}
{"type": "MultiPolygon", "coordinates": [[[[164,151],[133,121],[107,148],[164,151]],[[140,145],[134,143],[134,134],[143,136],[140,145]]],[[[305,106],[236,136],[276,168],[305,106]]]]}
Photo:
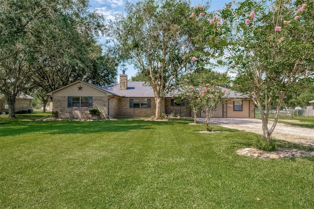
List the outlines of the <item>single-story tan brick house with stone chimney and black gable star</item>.
{"type": "MultiPolygon", "coordinates": [[[[254,117],[254,102],[247,96],[230,91],[228,103],[221,106],[217,117],[254,117]],[[234,98],[238,100],[234,101],[234,98]]],[[[120,83],[106,87],[76,81],[47,95],[52,97],[52,111],[60,118],[88,118],[90,109],[99,109],[103,118],[155,116],[154,91],[144,82],[129,82],[126,74],[120,83]]],[[[161,100],[160,112],[191,117],[191,110],[184,100],[177,104],[171,96],[161,100]]],[[[204,114],[200,114],[203,116],[204,114]]]]}

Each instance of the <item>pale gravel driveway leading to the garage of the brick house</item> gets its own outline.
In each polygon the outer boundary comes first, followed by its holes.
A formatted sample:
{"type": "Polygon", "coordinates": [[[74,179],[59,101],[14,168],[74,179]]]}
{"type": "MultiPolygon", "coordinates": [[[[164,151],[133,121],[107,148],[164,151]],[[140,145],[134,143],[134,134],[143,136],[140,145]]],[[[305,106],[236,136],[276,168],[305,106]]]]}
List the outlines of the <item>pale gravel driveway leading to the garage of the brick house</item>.
{"type": "MultiPolygon", "coordinates": [[[[197,121],[205,122],[206,118],[198,118],[197,121]]],[[[211,124],[220,125],[222,127],[254,132],[257,134],[262,133],[262,120],[252,118],[210,118],[211,124]]],[[[272,122],[269,123],[270,127],[272,122]]],[[[286,125],[277,123],[276,128],[272,134],[275,139],[299,143],[302,145],[314,147],[314,129],[303,128],[298,126],[286,125]]]]}

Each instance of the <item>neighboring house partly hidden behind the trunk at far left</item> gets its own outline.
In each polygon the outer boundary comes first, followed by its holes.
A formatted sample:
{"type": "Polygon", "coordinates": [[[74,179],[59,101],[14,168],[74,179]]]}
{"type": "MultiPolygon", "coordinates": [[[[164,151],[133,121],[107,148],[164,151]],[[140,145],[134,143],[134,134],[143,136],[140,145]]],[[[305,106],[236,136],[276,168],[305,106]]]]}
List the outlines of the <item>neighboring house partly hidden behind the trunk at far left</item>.
{"type": "MultiPolygon", "coordinates": [[[[30,113],[30,110],[33,109],[32,101],[34,97],[26,94],[21,93],[19,96],[16,97],[15,100],[15,113],[30,113]]],[[[4,97],[1,97],[0,99],[0,113],[8,113],[9,112],[9,106],[7,102],[5,101],[4,97]]]]}

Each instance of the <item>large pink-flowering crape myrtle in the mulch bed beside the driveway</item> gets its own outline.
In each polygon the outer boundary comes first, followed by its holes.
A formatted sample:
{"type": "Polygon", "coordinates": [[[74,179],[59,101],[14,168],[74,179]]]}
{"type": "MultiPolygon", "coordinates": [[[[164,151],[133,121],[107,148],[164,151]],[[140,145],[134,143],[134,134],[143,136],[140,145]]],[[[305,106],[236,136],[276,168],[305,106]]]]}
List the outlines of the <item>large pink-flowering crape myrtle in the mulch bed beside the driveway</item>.
{"type": "Polygon", "coordinates": [[[283,98],[298,81],[313,76],[313,0],[234,1],[217,9],[207,24],[217,28],[213,37],[224,46],[223,64],[260,110],[263,138],[269,142],[283,98]],[[276,114],[269,126],[272,104],[276,114]]]}

